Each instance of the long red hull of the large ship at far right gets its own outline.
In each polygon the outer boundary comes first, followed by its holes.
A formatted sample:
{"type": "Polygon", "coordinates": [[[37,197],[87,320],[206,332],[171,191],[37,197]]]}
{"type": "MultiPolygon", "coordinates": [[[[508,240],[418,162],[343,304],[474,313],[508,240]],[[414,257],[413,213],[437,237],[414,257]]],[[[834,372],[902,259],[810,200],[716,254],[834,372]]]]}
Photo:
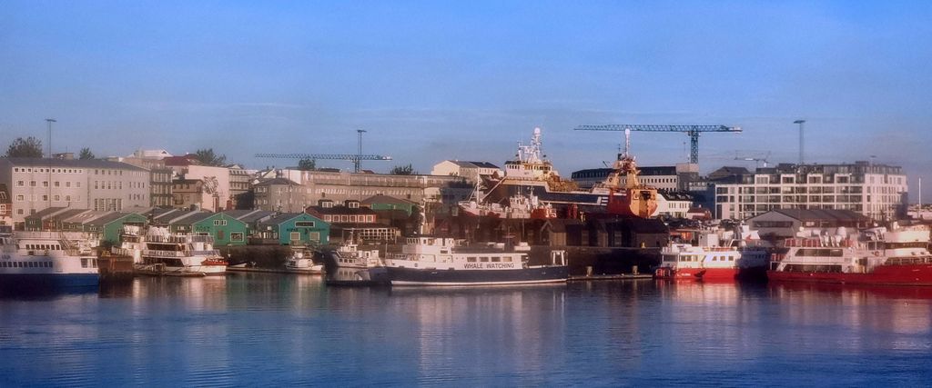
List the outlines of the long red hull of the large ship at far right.
{"type": "Polygon", "coordinates": [[[768,271],[767,278],[774,282],[932,286],[932,265],[882,265],[870,274],[768,271]]]}

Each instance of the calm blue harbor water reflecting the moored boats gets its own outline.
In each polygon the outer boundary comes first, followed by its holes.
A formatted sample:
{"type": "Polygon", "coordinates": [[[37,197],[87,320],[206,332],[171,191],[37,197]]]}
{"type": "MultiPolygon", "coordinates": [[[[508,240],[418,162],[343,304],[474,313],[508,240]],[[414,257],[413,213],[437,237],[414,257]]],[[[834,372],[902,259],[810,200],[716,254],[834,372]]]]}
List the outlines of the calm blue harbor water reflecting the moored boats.
{"type": "Polygon", "coordinates": [[[0,386],[927,385],[932,289],[144,277],[0,298],[0,386]]]}

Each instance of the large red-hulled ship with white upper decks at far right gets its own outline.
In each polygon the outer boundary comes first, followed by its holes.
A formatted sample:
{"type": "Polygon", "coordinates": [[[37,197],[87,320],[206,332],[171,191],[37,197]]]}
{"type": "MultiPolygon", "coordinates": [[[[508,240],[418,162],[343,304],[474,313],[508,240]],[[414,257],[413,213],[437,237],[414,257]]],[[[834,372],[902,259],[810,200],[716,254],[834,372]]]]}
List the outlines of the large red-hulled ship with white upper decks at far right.
{"type": "Polygon", "coordinates": [[[785,242],[769,280],[876,286],[932,286],[932,254],[926,226],[874,228],[849,236],[818,232],[785,242]],[[857,238],[860,237],[860,238],[857,238]]]}

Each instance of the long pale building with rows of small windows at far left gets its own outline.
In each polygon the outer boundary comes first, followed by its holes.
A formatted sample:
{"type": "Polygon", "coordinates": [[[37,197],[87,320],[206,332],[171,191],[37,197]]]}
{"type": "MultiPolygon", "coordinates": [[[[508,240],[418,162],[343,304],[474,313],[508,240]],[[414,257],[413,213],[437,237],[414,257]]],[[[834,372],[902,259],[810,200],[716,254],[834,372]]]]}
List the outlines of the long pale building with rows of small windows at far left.
{"type": "Polygon", "coordinates": [[[47,207],[122,210],[149,206],[149,171],[105,160],[0,158],[15,223],[47,207]]]}

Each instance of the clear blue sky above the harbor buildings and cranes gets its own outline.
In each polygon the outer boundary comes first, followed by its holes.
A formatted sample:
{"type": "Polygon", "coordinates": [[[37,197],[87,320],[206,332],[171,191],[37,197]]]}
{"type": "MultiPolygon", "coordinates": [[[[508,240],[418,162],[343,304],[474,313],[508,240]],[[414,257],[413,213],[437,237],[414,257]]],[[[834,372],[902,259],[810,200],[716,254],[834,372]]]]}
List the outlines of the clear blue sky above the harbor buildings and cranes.
{"type": "MultiPolygon", "coordinates": [[[[738,156],[873,159],[932,183],[932,2],[42,2],[0,7],[0,145],[95,154],[212,147],[366,153],[421,172],[500,164],[533,127],[569,175],[621,134],[580,124],[723,124],[707,172],[738,156]],[[871,158],[871,155],[873,156],[871,158]]],[[[642,165],[687,158],[635,133],[642,165]]],[[[349,168],[346,162],[322,162],[349,168]]],[[[915,180],[911,179],[913,193],[915,180]]],[[[932,186],[925,190],[932,200],[932,186]]]]}

